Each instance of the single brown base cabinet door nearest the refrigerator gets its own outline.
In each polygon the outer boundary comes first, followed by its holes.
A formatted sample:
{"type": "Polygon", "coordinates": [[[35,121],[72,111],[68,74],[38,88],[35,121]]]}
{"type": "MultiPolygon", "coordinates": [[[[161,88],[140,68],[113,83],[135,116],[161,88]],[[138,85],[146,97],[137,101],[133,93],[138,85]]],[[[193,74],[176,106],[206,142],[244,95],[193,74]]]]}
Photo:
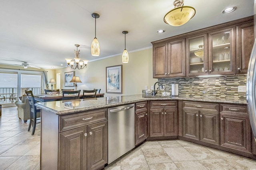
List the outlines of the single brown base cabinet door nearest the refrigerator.
{"type": "Polygon", "coordinates": [[[250,152],[249,116],[220,114],[220,144],[224,147],[250,152]]]}

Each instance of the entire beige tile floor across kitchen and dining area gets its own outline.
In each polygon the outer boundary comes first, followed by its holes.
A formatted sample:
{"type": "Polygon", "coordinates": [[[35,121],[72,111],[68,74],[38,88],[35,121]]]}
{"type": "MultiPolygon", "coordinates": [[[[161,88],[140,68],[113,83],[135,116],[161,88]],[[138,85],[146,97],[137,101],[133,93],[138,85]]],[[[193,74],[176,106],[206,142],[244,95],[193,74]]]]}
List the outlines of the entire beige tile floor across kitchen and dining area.
{"type": "MultiPolygon", "coordinates": [[[[18,119],[16,107],[0,116],[0,170],[40,169],[40,123],[35,134],[18,119]]],[[[179,140],[148,141],[106,170],[256,170],[256,161],[179,140]]]]}

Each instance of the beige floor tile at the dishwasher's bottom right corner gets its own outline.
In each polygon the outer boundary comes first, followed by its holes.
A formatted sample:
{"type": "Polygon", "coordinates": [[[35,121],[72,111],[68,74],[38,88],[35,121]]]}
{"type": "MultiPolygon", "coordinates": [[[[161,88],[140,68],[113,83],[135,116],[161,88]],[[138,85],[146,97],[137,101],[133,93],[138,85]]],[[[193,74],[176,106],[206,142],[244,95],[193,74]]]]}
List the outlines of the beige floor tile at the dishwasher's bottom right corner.
{"type": "Polygon", "coordinates": [[[121,158],[121,166],[147,164],[141,149],[133,150],[121,158]]]}

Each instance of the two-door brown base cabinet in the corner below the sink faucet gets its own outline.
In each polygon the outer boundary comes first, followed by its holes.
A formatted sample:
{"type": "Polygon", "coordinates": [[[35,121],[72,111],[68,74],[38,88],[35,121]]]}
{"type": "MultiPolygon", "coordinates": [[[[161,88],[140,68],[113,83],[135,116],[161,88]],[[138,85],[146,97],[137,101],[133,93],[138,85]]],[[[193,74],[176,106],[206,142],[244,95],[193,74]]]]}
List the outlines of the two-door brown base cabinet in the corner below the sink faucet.
{"type": "Polygon", "coordinates": [[[150,137],[178,135],[176,101],[150,101],[150,137]]]}

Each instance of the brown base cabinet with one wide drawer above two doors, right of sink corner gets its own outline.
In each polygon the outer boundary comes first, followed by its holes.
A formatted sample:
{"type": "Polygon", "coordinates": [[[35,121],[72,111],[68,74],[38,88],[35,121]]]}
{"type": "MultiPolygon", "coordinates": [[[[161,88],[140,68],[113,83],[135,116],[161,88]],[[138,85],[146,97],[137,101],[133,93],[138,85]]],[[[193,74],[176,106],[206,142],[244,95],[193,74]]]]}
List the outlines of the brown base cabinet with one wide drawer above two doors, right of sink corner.
{"type": "Polygon", "coordinates": [[[218,104],[183,102],[183,137],[219,145],[218,104]]]}

